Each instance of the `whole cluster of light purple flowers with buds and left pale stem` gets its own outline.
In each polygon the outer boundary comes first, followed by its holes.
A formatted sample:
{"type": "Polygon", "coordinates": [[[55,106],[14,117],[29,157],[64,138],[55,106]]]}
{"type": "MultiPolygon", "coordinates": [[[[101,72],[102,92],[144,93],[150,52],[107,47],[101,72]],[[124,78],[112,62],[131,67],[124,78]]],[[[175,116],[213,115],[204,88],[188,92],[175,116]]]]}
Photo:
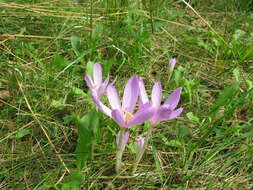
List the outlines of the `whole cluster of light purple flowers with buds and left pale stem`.
{"type": "MultiPolygon", "coordinates": [[[[175,60],[173,62],[175,63],[175,60]]],[[[119,148],[116,170],[120,169],[122,153],[129,138],[127,128],[142,124],[148,120],[151,126],[154,126],[161,121],[176,118],[183,111],[183,108],[176,109],[180,100],[181,87],[177,88],[161,105],[162,86],[160,82],[154,84],[151,100],[149,100],[143,80],[138,76],[133,76],[126,83],[121,101],[113,83],[109,83],[109,77],[104,82],[102,81],[102,68],[99,63],[95,63],[93,66],[93,78],[86,75],[85,81],[91,90],[92,99],[98,109],[112,118],[121,128],[116,137],[119,148]],[[101,97],[104,94],[107,95],[110,107],[101,101],[101,97]],[[139,105],[137,105],[138,102],[139,105]]],[[[141,149],[141,152],[144,152],[145,144],[144,138],[139,137],[137,139],[137,150],[141,149]]],[[[139,154],[138,157],[141,156],[139,154]]]]}

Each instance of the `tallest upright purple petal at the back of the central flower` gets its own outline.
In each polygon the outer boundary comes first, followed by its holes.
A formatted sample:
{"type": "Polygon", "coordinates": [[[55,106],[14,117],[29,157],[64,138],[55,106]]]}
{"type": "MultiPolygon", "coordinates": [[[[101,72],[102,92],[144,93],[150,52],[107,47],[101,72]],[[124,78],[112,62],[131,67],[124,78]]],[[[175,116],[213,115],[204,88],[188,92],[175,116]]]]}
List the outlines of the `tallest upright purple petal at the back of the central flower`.
{"type": "Polygon", "coordinates": [[[138,77],[132,77],[128,80],[122,102],[122,109],[133,113],[135,104],[139,95],[138,77]]]}

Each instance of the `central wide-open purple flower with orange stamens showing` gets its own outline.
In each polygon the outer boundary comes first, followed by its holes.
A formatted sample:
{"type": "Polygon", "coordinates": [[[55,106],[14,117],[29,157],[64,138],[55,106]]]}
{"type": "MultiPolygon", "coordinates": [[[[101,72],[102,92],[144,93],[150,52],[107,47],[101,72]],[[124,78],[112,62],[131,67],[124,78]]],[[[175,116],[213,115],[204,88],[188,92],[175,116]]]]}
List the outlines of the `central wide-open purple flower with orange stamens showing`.
{"type": "Polygon", "coordinates": [[[128,80],[124,89],[122,104],[116,88],[112,84],[108,85],[107,97],[112,109],[104,105],[96,96],[93,96],[93,101],[101,111],[111,117],[120,127],[128,128],[141,124],[153,116],[154,108],[151,102],[145,102],[134,112],[139,96],[138,82],[138,77],[132,77],[128,80]]]}

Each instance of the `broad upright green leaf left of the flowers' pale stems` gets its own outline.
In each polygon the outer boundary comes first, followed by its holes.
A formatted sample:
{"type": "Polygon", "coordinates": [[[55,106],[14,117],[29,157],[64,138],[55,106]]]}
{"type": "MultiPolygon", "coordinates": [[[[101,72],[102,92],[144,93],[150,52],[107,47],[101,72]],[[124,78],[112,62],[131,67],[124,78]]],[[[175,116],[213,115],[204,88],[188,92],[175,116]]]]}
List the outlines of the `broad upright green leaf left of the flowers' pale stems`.
{"type": "Polygon", "coordinates": [[[92,155],[92,143],[99,133],[99,116],[95,109],[92,109],[82,118],[77,118],[78,141],[76,147],[76,165],[81,170],[92,155]]]}

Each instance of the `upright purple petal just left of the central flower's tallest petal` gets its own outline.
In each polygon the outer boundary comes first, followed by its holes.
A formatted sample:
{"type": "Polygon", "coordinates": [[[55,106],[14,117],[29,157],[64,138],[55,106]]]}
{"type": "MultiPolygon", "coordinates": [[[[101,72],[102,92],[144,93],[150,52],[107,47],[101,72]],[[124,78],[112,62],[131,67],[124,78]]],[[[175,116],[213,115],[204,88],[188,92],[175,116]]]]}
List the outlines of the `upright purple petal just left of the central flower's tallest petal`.
{"type": "Polygon", "coordinates": [[[112,84],[109,84],[107,87],[107,98],[112,106],[112,109],[121,110],[119,95],[116,88],[112,84]]]}

